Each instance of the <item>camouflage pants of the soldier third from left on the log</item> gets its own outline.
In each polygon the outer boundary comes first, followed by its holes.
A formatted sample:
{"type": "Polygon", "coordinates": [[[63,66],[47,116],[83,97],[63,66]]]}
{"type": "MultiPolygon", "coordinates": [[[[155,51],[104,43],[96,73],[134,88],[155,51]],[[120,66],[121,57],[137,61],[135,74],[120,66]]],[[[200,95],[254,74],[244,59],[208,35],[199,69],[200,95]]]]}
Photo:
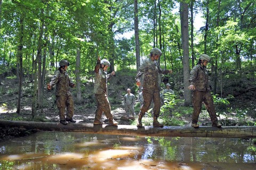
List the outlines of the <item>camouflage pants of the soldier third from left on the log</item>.
{"type": "Polygon", "coordinates": [[[142,116],[148,111],[152,100],[154,101],[153,115],[159,117],[160,107],[161,107],[161,98],[159,89],[147,89],[143,87],[143,105],[140,108],[140,114],[142,116]]]}

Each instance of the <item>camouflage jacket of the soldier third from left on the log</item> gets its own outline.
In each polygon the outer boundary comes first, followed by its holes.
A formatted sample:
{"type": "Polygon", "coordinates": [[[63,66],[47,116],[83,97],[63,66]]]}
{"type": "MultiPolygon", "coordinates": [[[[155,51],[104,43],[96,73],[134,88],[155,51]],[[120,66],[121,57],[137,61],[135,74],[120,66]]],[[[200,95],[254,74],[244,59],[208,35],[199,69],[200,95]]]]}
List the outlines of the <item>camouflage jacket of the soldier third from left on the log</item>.
{"type": "Polygon", "coordinates": [[[159,89],[162,82],[161,74],[168,74],[169,70],[162,70],[157,61],[152,61],[147,58],[143,61],[136,76],[136,81],[139,81],[141,76],[143,88],[159,89]]]}

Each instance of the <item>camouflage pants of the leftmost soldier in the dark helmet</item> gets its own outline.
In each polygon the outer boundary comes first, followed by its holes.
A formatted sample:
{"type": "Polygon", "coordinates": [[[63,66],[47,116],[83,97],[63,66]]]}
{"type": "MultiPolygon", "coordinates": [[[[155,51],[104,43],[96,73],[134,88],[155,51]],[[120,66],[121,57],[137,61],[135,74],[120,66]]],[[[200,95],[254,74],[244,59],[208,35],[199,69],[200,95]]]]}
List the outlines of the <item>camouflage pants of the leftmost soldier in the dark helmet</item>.
{"type": "Polygon", "coordinates": [[[66,120],[65,108],[67,107],[67,119],[71,119],[74,115],[74,100],[72,95],[56,96],[57,107],[59,109],[60,121],[66,120]]]}

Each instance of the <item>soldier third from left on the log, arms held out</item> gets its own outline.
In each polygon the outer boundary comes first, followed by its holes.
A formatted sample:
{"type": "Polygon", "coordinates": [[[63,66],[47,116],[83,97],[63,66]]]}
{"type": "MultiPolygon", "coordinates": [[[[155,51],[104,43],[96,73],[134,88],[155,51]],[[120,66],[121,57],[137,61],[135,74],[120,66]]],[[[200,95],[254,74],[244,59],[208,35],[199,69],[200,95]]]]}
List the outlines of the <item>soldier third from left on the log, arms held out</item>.
{"type": "Polygon", "coordinates": [[[139,118],[137,126],[141,127],[141,119],[148,111],[151,101],[154,101],[154,121],[153,126],[163,127],[164,125],[157,121],[159,117],[161,98],[160,98],[160,84],[161,84],[161,74],[169,74],[171,70],[162,70],[157,62],[158,58],[162,55],[162,52],[158,48],[153,48],[150,51],[150,58],[147,58],[141,64],[139,72],[136,76],[136,84],[140,86],[140,77],[143,75],[143,105],[140,108],[139,118]]]}

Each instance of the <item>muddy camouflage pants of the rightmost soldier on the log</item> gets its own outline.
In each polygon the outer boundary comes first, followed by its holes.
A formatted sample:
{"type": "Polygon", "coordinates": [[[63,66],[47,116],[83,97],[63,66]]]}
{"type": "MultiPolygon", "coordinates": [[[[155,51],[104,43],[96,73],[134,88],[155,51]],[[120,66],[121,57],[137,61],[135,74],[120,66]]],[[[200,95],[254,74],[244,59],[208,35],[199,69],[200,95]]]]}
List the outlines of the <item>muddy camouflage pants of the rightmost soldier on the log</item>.
{"type": "Polygon", "coordinates": [[[193,106],[194,106],[194,111],[192,115],[192,123],[197,123],[198,122],[198,117],[202,109],[202,104],[204,103],[207,112],[210,115],[211,122],[212,123],[217,123],[218,118],[215,112],[215,108],[213,105],[213,99],[211,96],[210,91],[193,91],[193,106]]]}

